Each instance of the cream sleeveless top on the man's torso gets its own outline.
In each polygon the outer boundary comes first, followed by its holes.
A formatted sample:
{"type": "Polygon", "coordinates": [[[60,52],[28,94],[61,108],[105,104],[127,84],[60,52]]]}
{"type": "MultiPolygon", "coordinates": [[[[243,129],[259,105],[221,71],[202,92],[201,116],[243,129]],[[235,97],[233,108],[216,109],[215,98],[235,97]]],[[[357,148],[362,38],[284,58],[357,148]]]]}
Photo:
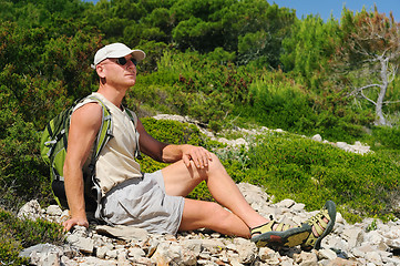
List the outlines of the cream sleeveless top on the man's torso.
{"type": "MultiPolygon", "coordinates": [[[[136,137],[134,124],[125,110],[121,110],[98,92],[92,95],[100,99],[110,110],[113,122],[113,135],[101,151],[95,174],[104,196],[115,185],[130,180],[142,177],[141,165],[135,161],[136,137]]],[[[78,104],[75,110],[86,103],[96,102],[86,99],[78,104]]],[[[136,136],[137,134],[137,136],[136,136]]],[[[88,161],[91,160],[91,155],[88,161]]]]}

